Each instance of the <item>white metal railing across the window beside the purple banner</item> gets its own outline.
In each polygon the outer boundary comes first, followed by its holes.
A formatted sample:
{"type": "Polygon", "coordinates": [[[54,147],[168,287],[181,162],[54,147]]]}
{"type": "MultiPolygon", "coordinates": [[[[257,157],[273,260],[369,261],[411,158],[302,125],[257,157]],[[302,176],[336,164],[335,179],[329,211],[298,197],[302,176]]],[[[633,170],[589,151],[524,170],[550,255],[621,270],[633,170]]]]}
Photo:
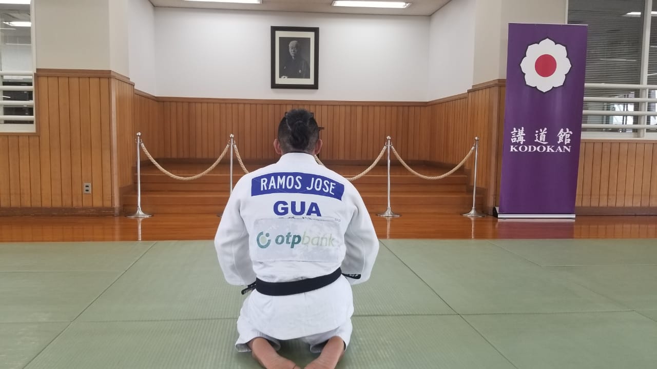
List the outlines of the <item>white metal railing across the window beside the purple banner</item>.
{"type": "Polygon", "coordinates": [[[596,124],[582,123],[583,130],[586,129],[611,129],[622,131],[636,131],[637,138],[644,138],[648,129],[657,129],[657,125],[648,124],[647,118],[657,116],[656,111],[648,111],[648,103],[657,104],[657,98],[648,98],[648,91],[657,90],[657,85],[633,85],[629,83],[585,83],[587,89],[610,89],[610,90],[639,90],[642,97],[595,97],[586,96],[584,102],[603,102],[612,104],[639,104],[638,110],[584,110],[584,116],[635,116],[639,117],[638,124],[596,124]],[[645,97],[644,97],[645,96],[645,97]]]}

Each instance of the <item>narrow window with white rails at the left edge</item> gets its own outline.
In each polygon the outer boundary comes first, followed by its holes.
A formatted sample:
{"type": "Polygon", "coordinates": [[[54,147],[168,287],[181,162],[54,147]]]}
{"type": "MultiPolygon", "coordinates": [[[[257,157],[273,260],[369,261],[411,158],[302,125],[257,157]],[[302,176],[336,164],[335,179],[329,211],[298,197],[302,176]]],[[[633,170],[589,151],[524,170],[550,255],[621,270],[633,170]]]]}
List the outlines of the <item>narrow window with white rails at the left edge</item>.
{"type": "Polygon", "coordinates": [[[34,52],[29,1],[0,2],[0,133],[32,133],[34,52]]]}

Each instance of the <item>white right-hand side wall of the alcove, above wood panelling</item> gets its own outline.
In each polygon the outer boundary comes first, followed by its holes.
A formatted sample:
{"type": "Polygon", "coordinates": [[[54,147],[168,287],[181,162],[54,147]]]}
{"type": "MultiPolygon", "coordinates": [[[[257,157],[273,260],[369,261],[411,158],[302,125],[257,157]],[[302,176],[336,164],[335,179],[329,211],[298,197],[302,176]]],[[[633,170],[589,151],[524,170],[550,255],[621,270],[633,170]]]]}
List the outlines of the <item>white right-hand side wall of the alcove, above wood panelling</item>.
{"type": "Polygon", "coordinates": [[[428,100],[472,87],[476,0],[451,0],[431,16],[428,100]]]}

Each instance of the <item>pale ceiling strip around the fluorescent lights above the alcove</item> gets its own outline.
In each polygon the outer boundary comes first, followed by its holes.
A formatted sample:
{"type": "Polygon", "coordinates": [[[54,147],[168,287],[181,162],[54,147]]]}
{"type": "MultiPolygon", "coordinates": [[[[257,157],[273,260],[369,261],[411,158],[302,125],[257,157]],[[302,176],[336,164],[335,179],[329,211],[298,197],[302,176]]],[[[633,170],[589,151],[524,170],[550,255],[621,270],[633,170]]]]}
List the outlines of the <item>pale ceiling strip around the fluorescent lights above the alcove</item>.
{"type": "Polygon", "coordinates": [[[332,0],[262,0],[262,4],[210,3],[206,1],[150,0],[155,7],[237,9],[246,11],[323,12],[346,14],[424,15],[434,14],[449,0],[405,0],[406,9],[332,7],[332,0]]]}

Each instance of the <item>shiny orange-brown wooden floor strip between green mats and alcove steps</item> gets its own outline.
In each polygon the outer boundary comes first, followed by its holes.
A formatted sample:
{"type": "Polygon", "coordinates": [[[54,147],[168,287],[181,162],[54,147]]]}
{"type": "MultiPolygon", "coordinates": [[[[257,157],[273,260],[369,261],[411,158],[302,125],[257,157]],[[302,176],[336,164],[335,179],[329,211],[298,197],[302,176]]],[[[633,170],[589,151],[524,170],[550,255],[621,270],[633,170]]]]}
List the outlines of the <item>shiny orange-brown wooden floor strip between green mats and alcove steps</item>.
{"type": "MultiPolygon", "coordinates": [[[[394,207],[393,207],[394,210],[394,207]]],[[[156,214],[125,217],[0,217],[0,242],[211,240],[220,217],[156,214]]],[[[657,217],[577,217],[575,221],[470,219],[459,214],[372,215],[379,238],[657,238],[657,217]]]]}

